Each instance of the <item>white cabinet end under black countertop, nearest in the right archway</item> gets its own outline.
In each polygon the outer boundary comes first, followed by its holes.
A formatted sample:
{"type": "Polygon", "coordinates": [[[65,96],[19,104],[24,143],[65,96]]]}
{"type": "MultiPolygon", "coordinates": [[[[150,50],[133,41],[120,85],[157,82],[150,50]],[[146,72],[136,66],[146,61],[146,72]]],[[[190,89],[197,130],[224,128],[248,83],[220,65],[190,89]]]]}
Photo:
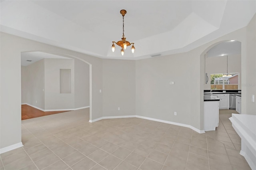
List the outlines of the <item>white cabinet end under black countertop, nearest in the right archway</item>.
{"type": "Polygon", "coordinates": [[[204,101],[204,131],[215,130],[219,125],[219,102],[204,101]]]}

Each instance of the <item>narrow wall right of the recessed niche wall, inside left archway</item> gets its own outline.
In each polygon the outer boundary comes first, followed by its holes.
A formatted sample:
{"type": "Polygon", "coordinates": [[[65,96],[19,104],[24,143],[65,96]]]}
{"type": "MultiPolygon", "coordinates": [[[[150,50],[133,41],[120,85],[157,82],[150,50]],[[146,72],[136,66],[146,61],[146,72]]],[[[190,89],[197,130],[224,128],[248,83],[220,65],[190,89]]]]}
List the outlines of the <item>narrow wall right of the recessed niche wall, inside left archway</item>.
{"type": "Polygon", "coordinates": [[[75,67],[75,99],[74,108],[90,106],[90,75],[89,65],[78,59],[75,67]]]}

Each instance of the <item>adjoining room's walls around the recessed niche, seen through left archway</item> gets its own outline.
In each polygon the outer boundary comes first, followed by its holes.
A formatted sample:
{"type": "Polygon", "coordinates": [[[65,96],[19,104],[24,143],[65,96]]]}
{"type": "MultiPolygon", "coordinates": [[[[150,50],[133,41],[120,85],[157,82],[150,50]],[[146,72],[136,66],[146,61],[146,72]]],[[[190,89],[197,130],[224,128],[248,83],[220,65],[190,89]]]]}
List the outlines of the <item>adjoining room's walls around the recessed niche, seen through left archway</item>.
{"type": "Polygon", "coordinates": [[[45,110],[77,109],[90,105],[89,65],[83,61],[78,59],[42,59],[26,67],[22,66],[21,74],[22,103],[45,110]],[[65,68],[72,68],[73,91],[71,94],[60,94],[60,69],[65,68]],[[44,83],[45,78],[46,82],[44,83]],[[46,99],[44,98],[45,93],[46,99]]]}

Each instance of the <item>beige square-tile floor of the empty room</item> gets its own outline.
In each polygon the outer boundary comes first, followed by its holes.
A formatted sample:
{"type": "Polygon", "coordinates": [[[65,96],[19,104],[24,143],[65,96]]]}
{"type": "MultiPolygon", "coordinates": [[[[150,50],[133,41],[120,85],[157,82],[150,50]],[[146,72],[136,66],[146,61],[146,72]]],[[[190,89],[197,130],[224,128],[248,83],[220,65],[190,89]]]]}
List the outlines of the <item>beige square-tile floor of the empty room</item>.
{"type": "Polygon", "coordinates": [[[247,170],[231,113],[216,131],[139,118],[88,123],[89,110],[22,121],[23,147],[0,155],[1,170],[247,170]]]}

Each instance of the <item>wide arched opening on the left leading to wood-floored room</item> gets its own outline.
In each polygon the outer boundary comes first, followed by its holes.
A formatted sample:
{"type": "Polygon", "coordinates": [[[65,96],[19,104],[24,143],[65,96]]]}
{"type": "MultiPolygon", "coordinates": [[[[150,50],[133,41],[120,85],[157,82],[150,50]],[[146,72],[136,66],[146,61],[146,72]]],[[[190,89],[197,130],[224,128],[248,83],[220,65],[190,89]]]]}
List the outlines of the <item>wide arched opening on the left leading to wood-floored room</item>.
{"type": "MultiPolygon", "coordinates": [[[[22,78],[21,83],[22,104],[32,107],[30,111],[34,110],[38,116],[44,116],[89,108],[90,118],[92,117],[90,108],[92,106],[92,65],[90,63],[78,57],[45,51],[25,51],[21,55],[22,77],[27,76],[27,79],[22,78]],[[28,62],[32,64],[24,64],[28,62]],[[65,83],[62,82],[63,70],[64,75],[67,75],[65,83]],[[66,86],[70,86],[70,90],[63,92],[61,87],[66,86]]],[[[25,116],[23,119],[29,117],[32,115],[25,116]]]]}

